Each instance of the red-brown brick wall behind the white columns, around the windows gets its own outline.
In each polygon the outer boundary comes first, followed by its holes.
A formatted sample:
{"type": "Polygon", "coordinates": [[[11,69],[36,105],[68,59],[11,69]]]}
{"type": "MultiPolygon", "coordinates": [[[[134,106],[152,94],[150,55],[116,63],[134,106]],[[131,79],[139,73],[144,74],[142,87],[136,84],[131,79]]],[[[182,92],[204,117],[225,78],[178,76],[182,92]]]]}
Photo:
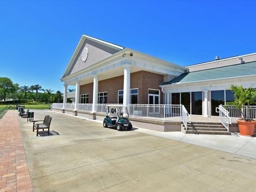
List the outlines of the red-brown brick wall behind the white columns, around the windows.
{"type": "MultiPolygon", "coordinates": [[[[160,90],[160,103],[163,103],[163,93],[159,84],[163,83],[164,76],[150,73],[148,71],[138,71],[131,73],[130,87],[138,88],[138,103],[148,104],[148,89],[160,90]]],[[[123,90],[124,76],[105,79],[99,81],[99,92],[108,92],[108,103],[118,103],[118,90],[123,90]]],[[[93,83],[80,86],[80,94],[89,94],[89,103],[92,103],[93,83]]]]}

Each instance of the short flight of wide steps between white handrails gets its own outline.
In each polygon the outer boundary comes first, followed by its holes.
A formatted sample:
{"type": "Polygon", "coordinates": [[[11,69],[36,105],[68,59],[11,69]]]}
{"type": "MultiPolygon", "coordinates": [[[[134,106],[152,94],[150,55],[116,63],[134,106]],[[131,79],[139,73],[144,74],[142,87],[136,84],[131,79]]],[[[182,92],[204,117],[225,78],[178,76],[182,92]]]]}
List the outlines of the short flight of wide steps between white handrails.
{"type": "Polygon", "coordinates": [[[182,123],[182,130],[187,134],[231,135],[221,123],[191,122],[188,123],[187,130],[185,130],[185,126],[182,123]]]}

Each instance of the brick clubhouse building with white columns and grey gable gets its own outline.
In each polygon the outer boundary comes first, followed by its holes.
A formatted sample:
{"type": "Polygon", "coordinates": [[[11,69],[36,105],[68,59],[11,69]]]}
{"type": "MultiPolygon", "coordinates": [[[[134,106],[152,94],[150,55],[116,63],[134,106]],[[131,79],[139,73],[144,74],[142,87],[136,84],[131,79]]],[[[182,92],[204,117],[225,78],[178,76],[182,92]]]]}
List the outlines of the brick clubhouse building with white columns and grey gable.
{"type": "Polygon", "coordinates": [[[97,113],[99,105],[118,103],[183,105],[189,115],[219,116],[216,108],[233,100],[231,84],[256,87],[256,53],[182,67],[82,35],[61,81],[63,113],[79,115],[85,103],[91,105],[90,113],[97,113]],[[76,91],[68,94],[68,85],[75,85],[76,91]],[[67,97],[74,98],[72,110],[66,109],[67,97]]]}

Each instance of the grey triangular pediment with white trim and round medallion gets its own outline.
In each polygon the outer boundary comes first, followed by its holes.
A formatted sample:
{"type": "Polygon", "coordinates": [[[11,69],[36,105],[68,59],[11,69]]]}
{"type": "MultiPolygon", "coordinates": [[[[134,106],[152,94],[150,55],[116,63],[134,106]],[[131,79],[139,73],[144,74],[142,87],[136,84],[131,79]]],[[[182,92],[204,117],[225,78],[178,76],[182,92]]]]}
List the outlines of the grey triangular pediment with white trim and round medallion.
{"type": "Polygon", "coordinates": [[[89,67],[102,59],[108,58],[123,49],[124,47],[122,46],[83,35],[62,78],[89,67]]]}

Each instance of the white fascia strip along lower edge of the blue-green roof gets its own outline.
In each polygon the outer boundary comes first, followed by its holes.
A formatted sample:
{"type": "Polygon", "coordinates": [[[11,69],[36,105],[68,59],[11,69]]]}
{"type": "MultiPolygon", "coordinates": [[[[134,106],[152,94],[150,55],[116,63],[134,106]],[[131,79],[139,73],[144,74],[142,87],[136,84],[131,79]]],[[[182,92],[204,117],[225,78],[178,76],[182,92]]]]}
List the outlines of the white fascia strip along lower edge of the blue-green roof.
{"type": "Polygon", "coordinates": [[[256,78],[256,75],[245,75],[245,76],[238,76],[238,77],[226,77],[226,78],[219,78],[219,79],[209,79],[209,80],[202,80],[202,81],[195,81],[195,82],[186,82],[186,83],[173,83],[168,85],[159,85],[160,87],[175,87],[175,86],[183,86],[183,85],[191,85],[191,84],[202,84],[202,83],[209,83],[209,82],[218,82],[218,81],[229,81],[233,79],[239,78],[256,78]]]}

